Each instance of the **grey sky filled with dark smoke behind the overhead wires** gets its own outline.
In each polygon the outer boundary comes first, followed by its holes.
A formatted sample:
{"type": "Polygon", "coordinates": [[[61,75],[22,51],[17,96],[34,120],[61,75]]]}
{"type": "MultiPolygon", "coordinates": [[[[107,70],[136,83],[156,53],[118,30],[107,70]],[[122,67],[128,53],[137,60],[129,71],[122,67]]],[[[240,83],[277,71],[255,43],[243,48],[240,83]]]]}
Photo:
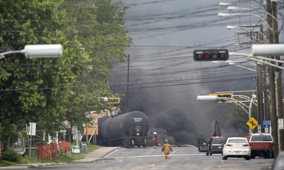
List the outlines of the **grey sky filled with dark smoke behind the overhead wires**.
{"type": "MultiPolygon", "coordinates": [[[[208,140],[211,137],[215,120],[220,122],[225,137],[246,135],[246,125],[226,116],[226,104],[197,102],[196,97],[218,91],[249,89],[256,86],[255,72],[226,63],[193,61],[193,50],[227,48],[249,54],[251,49],[248,46],[234,44],[248,42],[250,38],[240,37],[238,41],[235,29],[226,27],[263,22],[253,16],[218,17],[218,12],[229,12],[226,7],[218,5],[220,0],[122,1],[129,6],[125,14],[125,28],[133,38],[133,44],[126,51],[130,55],[129,82],[148,82],[129,85],[129,107],[149,117],[151,132],[158,134],[159,141],[163,143],[167,138],[171,144],[197,146],[198,138],[208,140]]],[[[259,4],[260,0],[224,2],[251,4],[265,10],[259,4]]],[[[284,13],[283,8],[280,12],[284,13]]],[[[251,13],[259,15],[254,11],[251,13]]],[[[280,21],[283,22],[283,18],[280,21]]],[[[280,42],[283,39],[281,33],[280,42]]],[[[246,60],[242,56],[230,56],[230,59],[246,60]]],[[[127,82],[127,62],[112,71],[114,78],[111,83],[127,82]]],[[[126,88],[126,85],[112,88],[126,88]]],[[[126,94],[126,89],[113,91],[126,94]]],[[[126,96],[120,106],[126,107],[126,96]]]]}

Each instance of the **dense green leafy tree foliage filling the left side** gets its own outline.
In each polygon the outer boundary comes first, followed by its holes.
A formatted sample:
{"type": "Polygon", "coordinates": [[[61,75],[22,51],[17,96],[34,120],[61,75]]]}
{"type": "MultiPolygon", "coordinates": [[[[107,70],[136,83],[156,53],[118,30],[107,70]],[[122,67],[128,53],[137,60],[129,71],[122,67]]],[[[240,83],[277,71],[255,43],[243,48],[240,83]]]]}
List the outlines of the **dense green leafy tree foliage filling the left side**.
{"type": "Polygon", "coordinates": [[[99,98],[113,96],[108,86],[64,87],[108,84],[113,61],[123,60],[131,41],[123,28],[126,8],[122,6],[108,0],[73,4],[63,0],[0,0],[0,46],[17,50],[26,44],[63,46],[62,57],[56,59],[17,55],[12,60],[0,60],[1,140],[12,143],[7,134],[21,130],[27,122],[45,122],[43,128],[53,133],[65,120],[80,127],[90,121],[85,112],[111,108],[99,98]],[[68,3],[71,6],[66,6],[68,3]],[[88,10],[83,10],[86,7],[88,10]],[[110,10],[99,19],[109,22],[97,22],[96,9],[110,10]]]}

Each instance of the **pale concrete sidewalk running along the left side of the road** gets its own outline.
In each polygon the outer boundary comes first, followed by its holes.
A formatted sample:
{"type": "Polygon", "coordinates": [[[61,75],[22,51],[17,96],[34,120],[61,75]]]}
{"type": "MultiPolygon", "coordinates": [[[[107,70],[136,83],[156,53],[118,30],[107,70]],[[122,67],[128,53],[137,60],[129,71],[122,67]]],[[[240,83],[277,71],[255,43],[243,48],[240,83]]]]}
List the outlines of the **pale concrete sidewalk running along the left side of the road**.
{"type": "MultiPolygon", "coordinates": [[[[103,147],[98,148],[92,152],[85,154],[84,159],[75,160],[72,163],[90,163],[96,160],[103,159],[104,156],[112,153],[113,151],[121,149],[121,147],[103,147]]],[[[70,163],[70,164],[72,164],[70,163]]],[[[3,166],[0,169],[29,169],[33,167],[42,167],[42,166],[49,166],[49,165],[64,165],[67,163],[30,163],[30,164],[18,164],[18,165],[10,165],[10,166],[3,166]]]]}

